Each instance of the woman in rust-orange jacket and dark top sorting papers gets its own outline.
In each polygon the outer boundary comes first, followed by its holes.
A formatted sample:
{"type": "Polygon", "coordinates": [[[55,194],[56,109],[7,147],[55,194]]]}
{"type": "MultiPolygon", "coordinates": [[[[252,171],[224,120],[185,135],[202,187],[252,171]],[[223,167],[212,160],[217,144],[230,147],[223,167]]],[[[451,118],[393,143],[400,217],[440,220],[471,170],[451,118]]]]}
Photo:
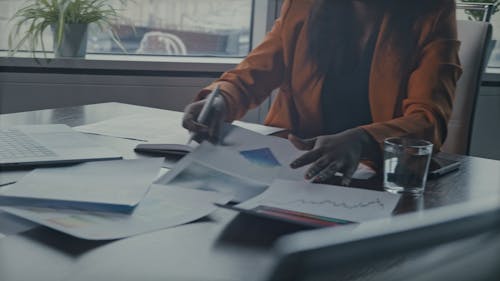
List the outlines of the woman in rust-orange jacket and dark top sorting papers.
{"type": "Polygon", "coordinates": [[[183,125],[214,137],[219,121],[279,88],[265,124],[309,150],[291,166],[313,163],[305,177],[316,182],[341,172],[348,185],[360,160],[380,165],[385,138],[439,149],[461,74],[456,38],[454,0],[288,0],[265,40],[188,105],[183,125]],[[220,110],[198,124],[217,86],[220,110]]]}

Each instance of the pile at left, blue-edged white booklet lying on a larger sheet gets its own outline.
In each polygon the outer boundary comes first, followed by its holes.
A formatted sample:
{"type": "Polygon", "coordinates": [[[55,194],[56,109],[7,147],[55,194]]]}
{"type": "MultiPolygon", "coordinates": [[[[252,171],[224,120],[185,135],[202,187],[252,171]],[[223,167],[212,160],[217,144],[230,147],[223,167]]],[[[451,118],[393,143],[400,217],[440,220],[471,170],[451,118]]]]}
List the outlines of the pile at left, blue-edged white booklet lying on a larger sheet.
{"type": "Polygon", "coordinates": [[[0,192],[0,210],[82,239],[111,240],[197,220],[213,212],[214,204],[231,200],[216,192],[152,185],[162,162],[37,169],[0,192]]]}

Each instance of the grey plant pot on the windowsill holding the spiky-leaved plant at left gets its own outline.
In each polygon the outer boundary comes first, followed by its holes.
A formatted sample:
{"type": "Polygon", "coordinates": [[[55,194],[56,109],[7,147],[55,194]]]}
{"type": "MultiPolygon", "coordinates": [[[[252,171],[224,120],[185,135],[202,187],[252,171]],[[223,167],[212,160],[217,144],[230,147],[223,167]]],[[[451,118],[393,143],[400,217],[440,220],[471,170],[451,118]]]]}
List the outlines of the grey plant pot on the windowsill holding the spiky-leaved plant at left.
{"type": "Polygon", "coordinates": [[[52,26],[54,34],[54,56],[56,58],[84,58],[87,53],[87,24],[65,24],[61,44],[57,40],[57,28],[52,26]]]}

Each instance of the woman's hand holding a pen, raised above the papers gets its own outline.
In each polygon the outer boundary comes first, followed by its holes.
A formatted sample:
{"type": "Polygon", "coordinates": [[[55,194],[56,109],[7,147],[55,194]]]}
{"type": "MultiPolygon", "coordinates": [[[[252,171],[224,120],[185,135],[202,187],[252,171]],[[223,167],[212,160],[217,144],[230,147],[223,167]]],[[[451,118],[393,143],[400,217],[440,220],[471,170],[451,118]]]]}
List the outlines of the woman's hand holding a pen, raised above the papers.
{"type": "Polygon", "coordinates": [[[222,96],[215,98],[208,118],[205,122],[198,122],[198,116],[207,102],[207,99],[188,104],[184,109],[182,126],[194,134],[193,140],[202,142],[208,140],[217,143],[220,139],[222,123],[226,119],[226,104],[222,96]]]}

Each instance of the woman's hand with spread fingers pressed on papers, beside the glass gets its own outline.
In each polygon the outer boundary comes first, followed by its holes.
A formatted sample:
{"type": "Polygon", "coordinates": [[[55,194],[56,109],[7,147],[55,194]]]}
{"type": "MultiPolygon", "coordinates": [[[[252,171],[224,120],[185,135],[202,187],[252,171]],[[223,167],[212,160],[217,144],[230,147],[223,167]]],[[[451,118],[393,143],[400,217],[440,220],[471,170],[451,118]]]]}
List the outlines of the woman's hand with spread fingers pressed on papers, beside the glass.
{"type": "Polygon", "coordinates": [[[326,182],[340,172],[342,185],[349,185],[361,158],[369,154],[367,151],[378,149],[377,143],[361,128],[307,140],[294,135],[288,139],[298,149],[309,150],[290,166],[296,169],[312,163],[305,178],[314,179],[315,183],[326,182]]]}

